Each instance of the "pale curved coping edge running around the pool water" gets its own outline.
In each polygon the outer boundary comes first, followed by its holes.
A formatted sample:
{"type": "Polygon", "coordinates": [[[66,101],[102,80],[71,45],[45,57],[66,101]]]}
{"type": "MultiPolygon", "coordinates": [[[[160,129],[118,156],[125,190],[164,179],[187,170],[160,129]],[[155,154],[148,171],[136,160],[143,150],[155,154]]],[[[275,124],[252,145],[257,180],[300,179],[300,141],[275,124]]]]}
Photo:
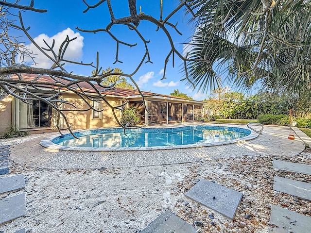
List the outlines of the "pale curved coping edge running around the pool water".
{"type": "MultiPolygon", "coordinates": [[[[183,128],[183,127],[185,127],[185,126],[169,127],[169,128],[183,128]]],[[[233,128],[246,129],[244,127],[241,127],[241,125],[239,125],[239,127],[235,126],[233,128]]],[[[115,129],[115,128],[105,128],[105,129],[115,129]]],[[[154,128],[149,128],[149,129],[154,129],[154,128]]],[[[98,152],[100,152],[100,151],[135,151],[135,150],[173,150],[173,149],[213,147],[213,146],[234,144],[234,143],[249,141],[249,140],[252,140],[252,139],[259,136],[258,133],[255,133],[251,130],[250,130],[250,132],[251,133],[245,137],[232,139],[232,140],[228,140],[228,141],[195,143],[195,144],[176,145],[176,146],[160,146],[160,147],[121,147],[121,148],[67,147],[67,146],[60,146],[60,145],[53,143],[52,140],[55,138],[55,135],[52,135],[50,137],[47,137],[47,138],[41,140],[40,145],[42,147],[45,147],[45,148],[50,149],[50,150],[65,150],[65,151],[98,151],[98,152]]],[[[59,134],[57,134],[57,135],[59,135],[59,134]]]]}

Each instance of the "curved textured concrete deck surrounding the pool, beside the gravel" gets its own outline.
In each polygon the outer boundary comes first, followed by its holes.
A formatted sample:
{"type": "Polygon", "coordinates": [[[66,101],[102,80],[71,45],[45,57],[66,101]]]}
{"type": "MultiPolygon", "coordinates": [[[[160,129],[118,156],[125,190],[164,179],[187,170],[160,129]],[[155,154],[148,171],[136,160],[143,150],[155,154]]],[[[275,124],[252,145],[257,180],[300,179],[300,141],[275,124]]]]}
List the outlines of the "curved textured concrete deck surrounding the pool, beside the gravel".
{"type": "MultiPolygon", "coordinates": [[[[213,125],[208,123],[193,124],[213,125]]],[[[216,125],[247,128],[246,125],[239,124],[216,125]]],[[[169,125],[169,127],[171,126],[169,125]]],[[[264,126],[262,134],[255,139],[234,144],[188,149],[136,151],[50,150],[40,145],[40,141],[48,137],[45,135],[12,148],[10,158],[19,165],[54,169],[169,165],[239,157],[243,155],[274,155],[277,158],[280,154],[294,156],[305,149],[304,142],[298,136],[295,140],[289,140],[287,138],[289,134],[294,134],[294,131],[289,127],[264,126]]]]}

